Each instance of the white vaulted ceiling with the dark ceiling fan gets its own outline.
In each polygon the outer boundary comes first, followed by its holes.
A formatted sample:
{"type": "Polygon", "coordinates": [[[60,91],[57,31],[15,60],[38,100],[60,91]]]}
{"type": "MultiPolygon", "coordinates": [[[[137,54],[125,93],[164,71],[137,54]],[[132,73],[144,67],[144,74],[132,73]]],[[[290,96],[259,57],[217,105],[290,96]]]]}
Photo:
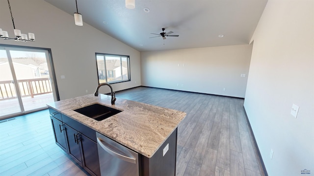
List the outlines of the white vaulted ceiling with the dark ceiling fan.
{"type": "MultiPolygon", "coordinates": [[[[75,0],[45,1],[72,16],[76,12],[75,0]]],[[[125,0],[77,1],[84,23],[138,51],[249,44],[267,3],[267,0],[135,0],[135,8],[128,9],[125,0]],[[144,12],[144,8],[150,12],[144,12]],[[163,40],[151,34],[159,34],[161,28],[180,36],[163,40]],[[218,37],[221,34],[223,38],[218,37]]]]}

